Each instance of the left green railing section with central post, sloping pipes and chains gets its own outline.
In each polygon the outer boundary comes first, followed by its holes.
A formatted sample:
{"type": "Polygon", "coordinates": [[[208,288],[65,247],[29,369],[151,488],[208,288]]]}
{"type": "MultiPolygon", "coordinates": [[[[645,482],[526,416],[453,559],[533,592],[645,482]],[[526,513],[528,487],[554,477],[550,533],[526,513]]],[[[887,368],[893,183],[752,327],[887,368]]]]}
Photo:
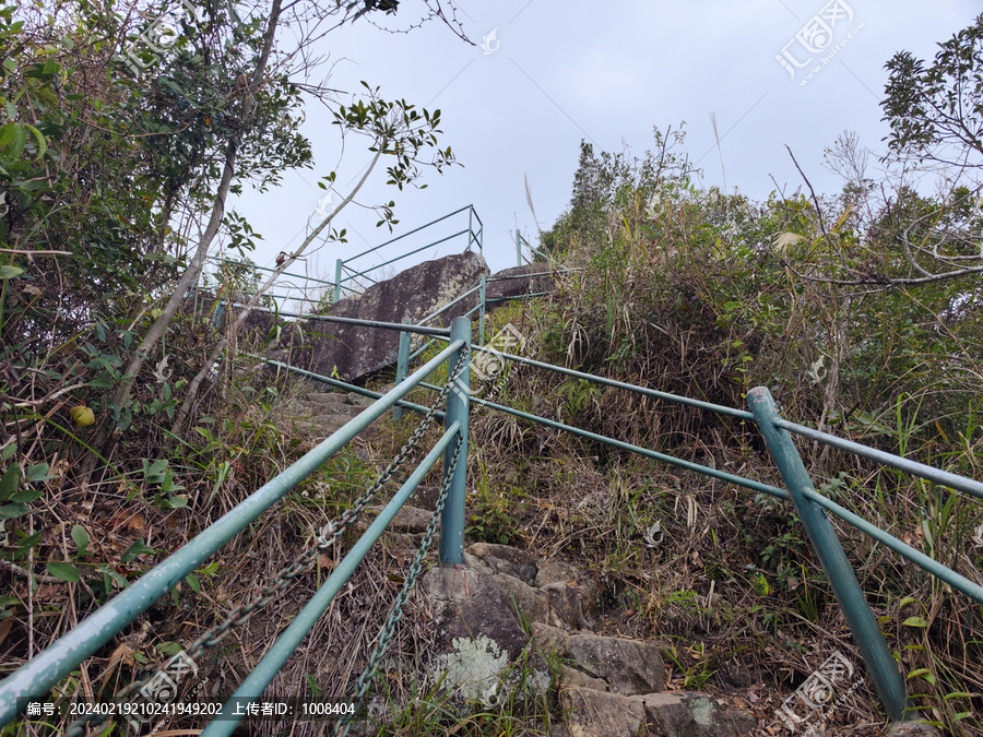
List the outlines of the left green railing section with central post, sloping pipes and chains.
{"type": "MultiPolygon", "coordinates": [[[[8,725],[16,717],[19,711],[22,711],[26,706],[26,699],[37,699],[38,697],[48,693],[59,681],[69,676],[70,673],[88,656],[93,655],[138,616],[146,611],[157,599],[171,591],[182,579],[185,579],[185,576],[199,568],[205,560],[228,543],[235,535],[245,530],[250,523],[259,519],[291,489],[295,488],[300,482],[317,471],[325,461],[351,442],[355,436],[396,405],[425,413],[425,418],[424,424],[417,428],[416,432],[414,432],[414,436],[411,438],[411,441],[407,442],[407,445],[404,447],[403,451],[396,455],[393,463],[390,464],[390,467],[380,475],[368,492],[357,500],[355,507],[345,512],[339,520],[328,523],[321,530],[320,535],[318,535],[319,544],[306,550],[294,564],[284,569],[277,578],[276,584],[264,589],[259,596],[251,598],[247,604],[234,610],[233,615],[229,615],[226,621],[221,626],[216,626],[209,630],[189,647],[188,655],[193,658],[209,649],[214,647],[227,634],[229,629],[239,623],[244,623],[256,609],[269,604],[280,590],[289,585],[299,573],[305,572],[305,570],[312,564],[317,554],[322,549],[327,549],[334,543],[334,539],[344,532],[357,513],[365,509],[372,496],[381,489],[384,482],[395,473],[406,454],[414,447],[413,443],[419,442],[426,430],[426,424],[431,418],[443,419],[446,426],[443,436],[435,443],[426,457],[417,465],[416,469],[410,475],[400,490],[396,491],[363,536],[354,544],[331,575],[329,575],[324,583],[321,584],[315,596],[294,618],[276,643],[273,644],[259,664],[257,664],[256,668],[253,668],[246,677],[233,694],[232,700],[238,700],[239,703],[242,703],[244,700],[246,702],[254,702],[262,696],[263,690],[272,681],[287,657],[297,649],[300,641],[310,631],[318,618],[327,610],[334,596],[355,571],[355,568],[368,554],[371,546],[395,516],[396,512],[399,512],[413,491],[415,491],[426,473],[441,456],[443,457],[443,484],[440,498],[438,499],[437,512],[435,512],[435,519],[431,521],[430,527],[428,527],[428,534],[433,534],[433,530],[436,528],[437,520],[439,519],[439,556],[441,563],[453,566],[463,562],[465,494],[465,463],[463,463],[463,457],[466,457],[467,447],[467,364],[471,346],[470,321],[466,319],[457,319],[451,324],[450,330],[445,330],[438,328],[418,329],[391,323],[377,323],[341,318],[336,318],[335,320],[347,323],[354,322],[355,324],[366,328],[408,330],[421,332],[426,335],[441,335],[442,337],[448,338],[449,345],[411,376],[396,384],[394,389],[383,395],[378,395],[368,390],[359,390],[359,388],[345,385],[345,389],[375,395],[378,396],[378,400],[366,407],[357,417],[354,417],[344,427],[323,440],[317,448],[292,464],[282,474],[272,478],[260,489],[237,504],[232,511],[223,515],[204,532],[181,547],[177,552],[145,572],[140,579],[132,582],[123,592],[104,604],[68,633],[56,640],[42,653],[0,681],[0,727],[8,725]],[[403,397],[407,393],[445,364],[447,365],[448,383],[445,385],[440,399],[446,397],[447,400],[446,413],[440,413],[437,409],[436,404],[428,409],[412,403],[403,402],[403,397]],[[459,459],[462,459],[462,461],[459,462],[459,459]]],[[[275,364],[275,361],[271,362],[275,364]]],[[[299,369],[294,367],[288,368],[292,371],[299,371],[299,369]]],[[[318,377],[310,372],[303,371],[301,373],[336,385],[335,380],[328,377],[318,377]]],[[[438,402],[440,400],[438,400],[438,402]]],[[[427,539],[425,539],[425,544],[428,545],[427,539]]],[[[386,626],[387,629],[380,634],[377,652],[374,653],[370,661],[372,667],[378,667],[378,664],[384,654],[388,639],[392,635],[392,627],[399,621],[402,606],[400,603],[402,602],[402,604],[405,604],[405,597],[408,595],[408,587],[412,586],[412,581],[415,581],[415,576],[421,572],[423,556],[425,554],[426,547],[424,546],[417,554],[417,559],[414,561],[414,567],[411,569],[412,580],[411,575],[407,575],[404,592],[401,594],[401,598],[398,598],[396,606],[393,607],[393,611],[386,626]]],[[[363,674],[363,678],[359,679],[360,690],[356,697],[360,698],[365,696],[370,678],[371,673],[367,669],[367,673],[363,674]]],[[[138,688],[144,685],[145,681],[134,681],[134,683],[130,683],[117,696],[131,696],[138,688]]],[[[238,722],[241,721],[241,717],[237,718],[232,715],[227,711],[227,708],[228,702],[223,706],[223,715],[211,722],[209,727],[204,730],[204,735],[208,737],[216,737],[232,734],[238,722]]],[[[91,721],[98,722],[100,720],[105,721],[104,717],[98,716],[95,716],[91,721]]],[[[68,734],[82,734],[83,729],[84,721],[72,725],[68,734]]]]}

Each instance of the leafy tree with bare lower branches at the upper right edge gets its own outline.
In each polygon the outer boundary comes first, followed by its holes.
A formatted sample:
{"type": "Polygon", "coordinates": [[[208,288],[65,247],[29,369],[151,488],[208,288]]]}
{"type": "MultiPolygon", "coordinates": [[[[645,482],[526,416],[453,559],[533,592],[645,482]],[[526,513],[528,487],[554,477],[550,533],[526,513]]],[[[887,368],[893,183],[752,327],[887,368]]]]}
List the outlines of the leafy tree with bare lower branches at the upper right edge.
{"type": "MultiPolygon", "coordinates": [[[[884,161],[901,161],[904,169],[893,191],[881,185],[883,202],[875,214],[873,182],[864,174],[866,152],[855,136],[837,140],[826,162],[846,180],[837,229],[845,223],[865,226],[864,247],[850,254],[839,251],[838,274],[806,277],[889,288],[981,274],[983,15],[939,44],[932,64],[899,51],[886,68],[889,79],[880,105],[891,133],[884,161]],[[912,181],[926,169],[938,185],[934,198],[919,194],[912,181]]],[[[829,234],[824,238],[833,242],[829,234]]]]}

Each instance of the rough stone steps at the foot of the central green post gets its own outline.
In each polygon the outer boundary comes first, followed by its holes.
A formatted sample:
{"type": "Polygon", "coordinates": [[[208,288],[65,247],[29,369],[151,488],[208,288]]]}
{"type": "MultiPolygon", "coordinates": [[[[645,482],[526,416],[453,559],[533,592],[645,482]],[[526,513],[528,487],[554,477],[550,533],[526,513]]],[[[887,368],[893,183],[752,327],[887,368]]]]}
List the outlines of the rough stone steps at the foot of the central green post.
{"type": "MultiPolygon", "coordinates": [[[[430,491],[436,488],[421,487],[417,503],[430,507],[422,501],[430,491]]],[[[418,535],[429,518],[429,510],[406,506],[391,530],[418,535]]],[[[532,674],[524,680],[540,698],[552,679],[559,681],[562,723],[549,732],[557,737],[758,733],[758,718],[746,710],[702,693],[667,691],[665,643],[593,632],[597,589],[577,567],[487,543],[469,546],[464,558],[462,567],[433,564],[421,581],[430,614],[418,625],[439,634],[436,651],[414,664],[462,702],[490,706],[502,689],[516,686],[511,674],[522,663],[532,674]]]]}

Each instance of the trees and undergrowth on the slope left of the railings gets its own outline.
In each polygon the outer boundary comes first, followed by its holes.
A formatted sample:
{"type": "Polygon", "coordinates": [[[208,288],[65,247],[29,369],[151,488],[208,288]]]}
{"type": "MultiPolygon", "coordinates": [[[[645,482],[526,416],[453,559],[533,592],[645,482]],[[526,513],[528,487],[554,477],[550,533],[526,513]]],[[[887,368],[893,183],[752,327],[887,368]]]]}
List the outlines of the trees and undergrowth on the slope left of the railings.
{"type": "MultiPolygon", "coordinates": [[[[0,3],[0,678],[299,455],[300,435],[271,419],[285,382],[244,357],[256,337],[237,336],[220,301],[258,302],[275,274],[205,275],[208,259],[246,259],[261,238],[227,197],[313,168],[306,105],[327,108],[348,150],[372,154],[347,190],[335,186],[344,162],[319,171],[339,204],[277,262],[284,271],[308,246],[344,242],[333,218],[370,178],[421,187],[453,164],[439,110],[316,76],[325,34],[400,11],[405,26],[434,19],[461,35],[453,10],[0,3]]],[[[380,225],[398,222],[393,201],[359,203],[380,225]]],[[[284,549],[309,542],[306,510],[343,503],[353,474],[325,467],[310,483],[332,478],[336,499],[298,489],[293,511],[258,533],[282,535],[284,549]]],[[[244,536],[189,575],[97,654],[102,674],[82,667],[59,690],[109,694],[193,641],[250,593],[239,566],[249,570],[252,546],[244,536]]],[[[213,665],[234,670],[236,647],[224,651],[213,665]]]]}

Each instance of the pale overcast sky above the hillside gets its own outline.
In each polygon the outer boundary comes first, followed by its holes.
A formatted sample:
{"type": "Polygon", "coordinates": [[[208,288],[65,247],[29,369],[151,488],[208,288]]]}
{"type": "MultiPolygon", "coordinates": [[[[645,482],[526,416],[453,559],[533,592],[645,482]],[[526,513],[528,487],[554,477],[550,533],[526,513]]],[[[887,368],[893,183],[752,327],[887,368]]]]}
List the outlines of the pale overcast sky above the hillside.
{"type": "MultiPolygon", "coordinates": [[[[981,12],[979,0],[460,0],[458,7],[477,46],[435,22],[390,34],[359,21],[328,36],[319,51],[334,63],[334,88],[353,93],[365,80],[389,99],[439,108],[442,145],[463,164],[443,175],[428,171],[427,189],[403,192],[384,186],[380,168],[359,199],[395,201],[400,224],[393,236],[473,204],[493,271],[516,264],[517,226],[536,242],[523,176],[538,225],[548,229],[569,202],[581,139],[595,152],[620,152],[627,144],[641,155],[651,147],[653,127],[675,129],[685,121],[685,150],[703,169],[704,187],[722,187],[725,176],[731,191],[765,199],[773,177],[794,192],[802,179],[787,144],[819,191],[838,191],[840,180],[821,162],[839,133],[855,131],[861,143],[883,151],[885,62],[901,49],[931,59],[937,43],[981,12]]],[[[386,24],[405,27],[418,19],[418,0],[403,0],[386,24]]],[[[282,46],[288,45],[284,35],[282,46]]],[[[303,130],[313,145],[313,170],[286,173],[283,186],[265,194],[247,188],[233,203],[264,237],[253,255],[260,265],[296,248],[322,219],[319,207],[339,203],[368,161],[354,139],[342,156],[330,120],[322,108],[308,106],[303,130]],[[328,203],[316,182],[332,169],[337,191],[328,203]]],[[[335,222],[348,230],[350,242],[324,245],[294,271],[333,278],[336,258],[392,237],[375,227],[377,219],[351,206],[335,222]]],[[[453,225],[463,229],[466,218],[453,225]]],[[[410,240],[356,264],[399,255],[410,240]]]]}

